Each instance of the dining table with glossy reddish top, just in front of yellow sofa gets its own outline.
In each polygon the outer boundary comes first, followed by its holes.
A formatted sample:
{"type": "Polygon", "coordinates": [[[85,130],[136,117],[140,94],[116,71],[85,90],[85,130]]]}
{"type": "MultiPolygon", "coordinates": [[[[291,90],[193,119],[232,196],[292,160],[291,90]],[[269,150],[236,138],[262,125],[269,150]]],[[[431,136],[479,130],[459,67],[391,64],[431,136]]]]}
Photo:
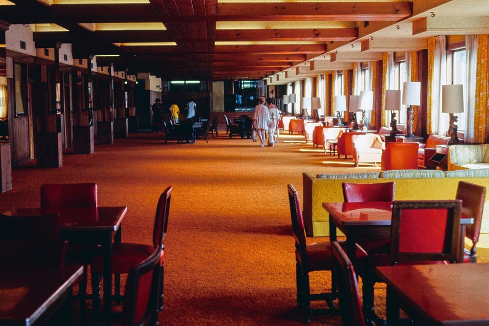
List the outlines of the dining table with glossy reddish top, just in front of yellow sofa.
{"type": "MultiPolygon", "coordinates": [[[[346,254],[356,266],[357,239],[390,239],[392,201],[331,202],[323,203],[329,213],[330,240],[336,241],[339,229],[346,236],[346,254]]],[[[466,224],[472,224],[472,217],[460,218],[459,260],[464,259],[464,238],[466,224]]]]}

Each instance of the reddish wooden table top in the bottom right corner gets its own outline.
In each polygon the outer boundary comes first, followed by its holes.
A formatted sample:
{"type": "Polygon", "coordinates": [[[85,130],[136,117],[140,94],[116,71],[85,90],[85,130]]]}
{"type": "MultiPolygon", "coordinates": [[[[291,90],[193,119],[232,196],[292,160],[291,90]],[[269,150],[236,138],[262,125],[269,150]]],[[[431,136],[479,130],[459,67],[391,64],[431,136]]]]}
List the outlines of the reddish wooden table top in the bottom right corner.
{"type": "Polygon", "coordinates": [[[382,266],[377,274],[428,325],[489,324],[488,263],[382,266]]]}

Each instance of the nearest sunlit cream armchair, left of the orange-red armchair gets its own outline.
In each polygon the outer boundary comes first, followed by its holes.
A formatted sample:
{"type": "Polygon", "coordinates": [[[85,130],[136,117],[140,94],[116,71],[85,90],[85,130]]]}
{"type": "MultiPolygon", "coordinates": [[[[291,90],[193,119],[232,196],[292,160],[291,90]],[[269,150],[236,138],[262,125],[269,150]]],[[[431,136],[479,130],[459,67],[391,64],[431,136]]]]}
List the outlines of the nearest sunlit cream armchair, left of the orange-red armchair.
{"type": "Polygon", "coordinates": [[[352,142],[355,150],[355,166],[358,166],[358,163],[382,161],[382,150],[385,149],[385,143],[379,135],[372,133],[354,135],[352,142]]]}

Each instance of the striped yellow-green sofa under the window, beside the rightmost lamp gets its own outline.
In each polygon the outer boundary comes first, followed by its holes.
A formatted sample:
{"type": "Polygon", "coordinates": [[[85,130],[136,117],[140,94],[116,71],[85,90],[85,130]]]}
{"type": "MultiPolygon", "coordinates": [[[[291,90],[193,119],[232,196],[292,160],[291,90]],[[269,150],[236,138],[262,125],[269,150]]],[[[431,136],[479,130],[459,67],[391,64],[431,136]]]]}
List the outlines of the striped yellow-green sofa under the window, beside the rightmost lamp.
{"type": "Polygon", "coordinates": [[[489,168],[489,144],[449,146],[447,166],[449,171],[489,168]]]}

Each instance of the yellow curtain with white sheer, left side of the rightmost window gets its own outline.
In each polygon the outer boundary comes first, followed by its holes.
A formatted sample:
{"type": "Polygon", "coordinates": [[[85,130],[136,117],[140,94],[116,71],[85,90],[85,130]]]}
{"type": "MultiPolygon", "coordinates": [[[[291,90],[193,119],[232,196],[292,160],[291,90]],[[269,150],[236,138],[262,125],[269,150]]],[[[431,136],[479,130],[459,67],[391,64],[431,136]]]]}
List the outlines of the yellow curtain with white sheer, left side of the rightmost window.
{"type": "Polygon", "coordinates": [[[428,39],[428,133],[444,136],[448,114],[442,113],[442,85],[446,85],[445,36],[428,39]]]}

